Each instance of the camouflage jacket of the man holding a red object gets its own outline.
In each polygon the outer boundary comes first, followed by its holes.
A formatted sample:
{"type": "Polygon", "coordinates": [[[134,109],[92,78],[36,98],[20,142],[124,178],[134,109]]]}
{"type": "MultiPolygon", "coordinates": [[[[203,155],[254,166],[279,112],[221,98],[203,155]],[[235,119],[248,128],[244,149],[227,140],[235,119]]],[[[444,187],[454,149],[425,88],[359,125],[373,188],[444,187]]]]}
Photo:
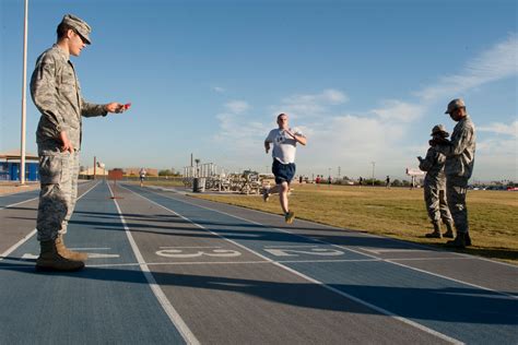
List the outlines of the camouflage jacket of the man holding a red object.
{"type": "Polygon", "coordinates": [[[60,131],[66,131],[74,148],[80,150],[81,117],[107,115],[103,105],[83,99],[69,55],[57,45],[38,57],[31,78],[31,95],[42,112],[36,130],[39,155],[59,153],[60,131]]]}

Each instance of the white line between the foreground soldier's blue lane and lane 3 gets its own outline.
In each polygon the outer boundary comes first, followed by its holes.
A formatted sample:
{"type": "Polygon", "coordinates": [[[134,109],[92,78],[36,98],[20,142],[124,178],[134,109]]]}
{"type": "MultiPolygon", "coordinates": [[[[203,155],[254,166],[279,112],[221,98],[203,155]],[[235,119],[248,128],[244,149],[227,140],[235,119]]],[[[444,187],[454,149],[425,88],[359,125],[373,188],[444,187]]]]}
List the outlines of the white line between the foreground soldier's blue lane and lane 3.
{"type": "MultiPolygon", "coordinates": [[[[107,183],[107,186],[108,186],[109,192],[111,193],[111,195],[114,195],[111,188],[109,187],[109,183],[107,183]]],[[[115,206],[117,207],[117,212],[119,213],[120,222],[122,223],[122,226],[125,228],[126,236],[128,237],[128,240],[131,245],[131,249],[133,250],[134,257],[137,258],[137,261],[139,262],[140,270],[144,274],[145,279],[148,281],[148,284],[151,287],[151,290],[153,292],[156,299],[158,300],[158,304],[162,306],[167,317],[169,317],[169,320],[176,326],[176,329],[178,330],[180,335],[184,337],[186,343],[199,345],[200,342],[196,338],[195,334],[187,326],[185,321],[181,319],[180,314],[176,311],[176,309],[167,299],[167,296],[165,296],[164,292],[162,290],[160,285],[156,283],[153,274],[150,271],[150,267],[145,263],[144,258],[142,257],[142,253],[139,250],[139,247],[137,246],[137,242],[133,239],[133,236],[131,235],[131,231],[128,227],[128,224],[126,223],[125,217],[122,216],[122,212],[120,211],[117,199],[113,199],[113,200],[114,200],[115,206]]]]}

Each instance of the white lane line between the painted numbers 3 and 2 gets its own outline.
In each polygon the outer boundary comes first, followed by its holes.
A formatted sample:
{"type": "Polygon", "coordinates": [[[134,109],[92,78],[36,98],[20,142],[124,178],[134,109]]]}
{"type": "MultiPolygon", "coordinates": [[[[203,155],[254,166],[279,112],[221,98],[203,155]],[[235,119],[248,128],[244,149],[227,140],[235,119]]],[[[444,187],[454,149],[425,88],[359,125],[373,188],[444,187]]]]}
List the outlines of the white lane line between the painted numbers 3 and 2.
{"type": "MultiPolygon", "coordinates": [[[[126,187],[122,187],[122,188],[127,189],[126,187]]],[[[462,342],[460,342],[460,341],[458,341],[458,340],[456,340],[456,338],[452,338],[452,337],[450,337],[450,336],[448,336],[448,335],[446,335],[446,334],[443,334],[443,333],[439,333],[439,332],[437,332],[437,331],[435,331],[435,330],[428,329],[427,326],[424,326],[424,325],[422,325],[422,324],[420,324],[420,323],[417,323],[417,322],[414,322],[414,321],[412,321],[412,320],[409,320],[409,319],[405,319],[405,318],[403,318],[403,317],[400,317],[400,316],[398,316],[398,314],[396,314],[396,313],[393,313],[393,312],[391,312],[391,311],[389,311],[389,310],[386,310],[386,309],[382,309],[382,308],[377,307],[377,306],[375,306],[375,305],[372,305],[372,304],[369,304],[369,302],[367,302],[367,301],[365,301],[365,300],[363,300],[363,299],[360,299],[360,298],[357,298],[357,297],[354,297],[354,296],[352,296],[352,295],[349,295],[349,294],[346,294],[346,293],[344,293],[344,292],[342,292],[342,290],[339,290],[339,289],[337,289],[337,288],[334,288],[334,287],[332,287],[332,286],[330,286],[330,285],[327,285],[327,284],[325,284],[325,283],[322,283],[322,282],[320,282],[320,281],[317,281],[317,279],[315,279],[315,278],[313,278],[313,277],[310,277],[310,276],[308,276],[308,275],[305,275],[305,274],[303,274],[303,273],[301,273],[301,272],[298,272],[298,271],[295,271],[295,270],[293,270],[293,269],[291,269],[291,267],[289,267],[289,266],[286,266],[286,265],[284,265],[284,264],[282,264],[282,263],[275,262],[275,261],[273,261],[272,259],[267,258],[267,257],[264,257],[264,255],[262,255],[262,254],[260,254],[260,253],[258,253],[258,252],[256,252],[256,251],[254,251],[254,250],[251,250],[251,249],[249,249],[249,248],[247,248],[247,247],[245,247],[245,246],[243,246],[243,245],[240,245],[240,243],[238,243],[238,242],[236,242],[236,241],[234,241],[234,240],[232,240],[232,239],[228,239],[228,238],[226,238],[226,237],[224,237],[224,236],[222,236],[222,235],[220,235],[220,234],[216,234],[216,233],[211,231],[210,229],[203,227],[202,225],[195,223],[193,221],[191,221],[191,219],[189,219],[189,218],[183,216],[181,214],[179,214],[179,213],[177,213],[177,212],[175,212],[175,211],[173,211],[173,210],[170,210],[170,209],[167,209],[167,207],[164,206],[164,205],[161,205],[161,204],[154,202],[153,200],[150,200],[150,199],[148,199],[148,198],[145,198],[145,197],[143,197],[143,195],[137,193],[137,192],[133,192],[133,191],[130,190],[130,189],[127,189],[127,190],[131,191],[132,193],[134,193],[136,195],[138,195],[138,197],[140,197],[140,198],[142,198],[142,199],[144,199],[144,200],[148,200],[148,201],[151,202],[152,204],[155,204],[155,205],[157,205],[157,206],[160,206],[160,207],[162,207],[162,209],[164,209],[164,210],[167,210],[168,212],[170,212],[170,213],[173,213],[173,214],[176,214],[177,216],[179,216],[179,217],[181,217],[183,219],[185,219],[185,221],[191,223],[192,225],[195,225],[195,226],[197,226],[197,227],[199,227],[199,228],[201,228],[201,229],[204,229],[205,231],[211,233],[211,234],[213,234],[214,236],[220,237],[220,238],[222,238],[222,239],[224,239],[224,240],[226,240],[226,241],[228,241],[228,242],[231,242],[231,243],[233,243],[233,245],[235,245],[235,246],[237,246],[237,247],[239,247],[239,248],[243,248],[244,250],[251,252],[252,254],[255,254],[255,255],[257,255],[257,257],[263,259],[264,261],[269,261],[269,262],[272,263],[273,265],[275,265],[275,266],[278,266],[278,267],[282,269],[282,270],[285,270],[285,271],[287,271],[287,272],[290,272],[290,273],[292,273],[292,274],[295,274],[295,275],[297,275],[297,276],[299,276],[299,277],[302,277],[302,278],[304,278],[304,279],[310,282],[310,283],[317,284],[317,285],[319,285],[319,286],[321,286],[321,287],[323,287],[323,288],[326,288],[326,289],[328,289],[328,290],[330,290],[330,292],[332,292],[332,293],[335,293],[335,294],[338,294],[338,295],[340,295],[340,296],[343,296],[343,297],[345,297],[345,298],[348,298],[348,299],[354,300],[354,301],[356,301],[356,302],[358,302],[358,304],[361,304],[361,305],[364,305],[364,306],[366,306],[366,307],[368,307],[368,308],[370,308],[370,309],[373,309],[373,310],[376,310],[377,312],[380,312],[380,313],[382,313],[382,314],[385,314],[385,316],[387,316],[387,317],[389,317],[389,318],[392,318],[392,319],[395,319],[395,320],[398,320],[398,321],[400,321],[400,322],[403,322],[403,323],[405,323],[405,324],[408,324],[408,325],[411,325],[411,326],[413,326],[413,328],[415,328],[415,329],[417,329],[417,330],[421,330],[421,331],[423,331],[423,332],[425,332],[425,333],[428,333],[428,334],[432,334],[432,335],[434,335],[434,336],[437,336],[438,338],[442,338],[442,340],[444,340],[444,341],[446,341],[446,342],[450,342],[451,344],[463,344],[462,342]]],[[[180,201],[180,202],[181,202],[181,201],[180,201]]],[[[197,205],[195,205],[195,206],[197,206],[197,205]]],[[[209,207],[203,207],[203,209],[210,210],[209,207]]],[[[211,211],[214,211],[214,210],[211,210],[211,211]]],[[[239,218],[239,217],[236,217],[236,218],[239,218]]],[[[240,219],[247,221],[247,219],[244,219],[244,218],[240,218],[240,219]]],[[[250,222],[250,221],[247,221],[247,222],[250,222]]],[[[258,223],[257,223],[257,224],[258,224],[258,223]]],[[[378,258],[375,258],[375,259],[378,259],[378,258]]]]}

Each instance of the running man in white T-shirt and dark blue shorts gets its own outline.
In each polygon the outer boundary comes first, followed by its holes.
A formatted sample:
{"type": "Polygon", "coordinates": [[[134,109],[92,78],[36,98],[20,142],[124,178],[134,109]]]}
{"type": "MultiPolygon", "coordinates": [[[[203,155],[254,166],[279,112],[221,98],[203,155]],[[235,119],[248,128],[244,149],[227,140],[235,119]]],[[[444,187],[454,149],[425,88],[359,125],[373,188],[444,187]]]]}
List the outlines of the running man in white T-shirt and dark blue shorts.
{"type": "Polygon", "coordinates": [[[301,132],[294,132],[287,127],[287,115],[279,114],[276,123],[279,128],[270,131],[264,140],[264,150],[267,154],[270,151],[270,144],[273,143],[272,150],[272,172],[275,176],[275,187],[266,189],[262,198],[268,201],[270,194],[279,193],[281,209],[284,213],[284,219],[287,224],[292,224],[295,213],[290,211],[287,203],[287,192],[290,191],[290,182],[295,176],[295,153],[297,143],[306,145],[306,136],[301,132]]]}

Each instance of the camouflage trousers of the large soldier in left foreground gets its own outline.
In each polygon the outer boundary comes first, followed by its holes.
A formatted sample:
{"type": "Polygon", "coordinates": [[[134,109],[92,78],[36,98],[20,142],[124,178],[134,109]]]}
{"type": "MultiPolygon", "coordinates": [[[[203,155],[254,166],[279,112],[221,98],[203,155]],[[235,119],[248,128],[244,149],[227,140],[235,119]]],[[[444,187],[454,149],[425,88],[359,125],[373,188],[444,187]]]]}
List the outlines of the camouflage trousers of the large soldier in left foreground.
{"type": "Polygon", "coordinates": [[[78,197],[78,176],[79,152],[39,156],[39,241],[54,240],[67,233],[78,197]]]}

